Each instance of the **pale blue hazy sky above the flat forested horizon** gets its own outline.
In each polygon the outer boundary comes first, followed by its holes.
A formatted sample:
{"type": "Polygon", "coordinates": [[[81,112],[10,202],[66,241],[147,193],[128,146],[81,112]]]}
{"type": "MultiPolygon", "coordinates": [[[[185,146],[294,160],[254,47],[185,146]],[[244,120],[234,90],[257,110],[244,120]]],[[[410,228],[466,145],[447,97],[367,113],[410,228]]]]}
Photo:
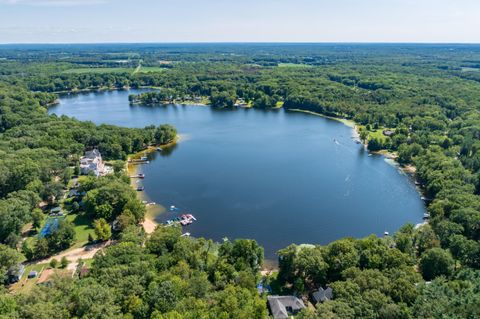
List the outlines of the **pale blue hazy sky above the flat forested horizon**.
{"type": "Polygon", "coordinates": [[[0,0],[0,43],[480,43],[480,0],[0,0]]]}

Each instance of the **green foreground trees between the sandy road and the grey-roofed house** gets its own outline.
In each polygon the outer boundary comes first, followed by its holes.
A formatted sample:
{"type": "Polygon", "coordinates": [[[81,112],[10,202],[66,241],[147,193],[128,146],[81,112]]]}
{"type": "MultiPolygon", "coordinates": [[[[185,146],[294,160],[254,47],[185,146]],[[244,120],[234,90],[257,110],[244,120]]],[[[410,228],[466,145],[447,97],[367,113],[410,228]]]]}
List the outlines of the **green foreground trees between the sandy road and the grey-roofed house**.
{"type": "Polygon", "coordinates": [[[263,249],[255,241],[221,245],[138,227],[97,254],[81,279],[57,278],[23,295],[0,294],[5,318],[265,318],[256,289],[263,249]]]}

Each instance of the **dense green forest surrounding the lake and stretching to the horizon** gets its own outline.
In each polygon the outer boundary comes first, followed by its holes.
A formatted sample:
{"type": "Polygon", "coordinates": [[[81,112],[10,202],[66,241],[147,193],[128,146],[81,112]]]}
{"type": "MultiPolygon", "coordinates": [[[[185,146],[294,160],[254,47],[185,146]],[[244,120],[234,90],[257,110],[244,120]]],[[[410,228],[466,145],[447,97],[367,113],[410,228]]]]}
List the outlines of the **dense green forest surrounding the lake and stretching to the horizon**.
{"type": "Polygon", "coordinates": [[[261,279],[255,241],[184,238],[175,227],[146,236],[138,226],[145,207],[118,162],[114,175],[83,180],[83,205],[72,203],[95,220],[99,238],[116,244],[85,275],[28,293],[5,290],[0,316],[264,318],[266,295],[256,289],[263,280],[304,300],[319,287],[333,289],[333,300],[299,318],[480,317],[479,46],[29,45],[1,46],[0,58],[1,275],[72,245],[68,223],[33,242],[22,229],[39,223],[39,203],[61,196],[85,150],[124,161],[175,134],[169,126],[49,116],[48,106],[67,92],[150,87],[130,101],[284,107],[352,120],[369,150],[416,168],[430,215],[428,224],[386,238],[291,245],[278,252],[278,273],[261,279]]]}

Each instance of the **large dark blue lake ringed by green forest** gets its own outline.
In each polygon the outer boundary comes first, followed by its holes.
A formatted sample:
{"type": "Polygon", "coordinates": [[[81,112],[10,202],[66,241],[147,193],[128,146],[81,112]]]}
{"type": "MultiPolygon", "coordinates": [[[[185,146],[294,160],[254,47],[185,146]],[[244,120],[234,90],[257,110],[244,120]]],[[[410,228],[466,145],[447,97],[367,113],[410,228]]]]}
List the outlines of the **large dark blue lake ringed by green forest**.
{"type": "Polygon", "coordinates": [[[181,141],[150,154],[142,181],[149,199],[193,214],[192,236],[253,238],[267,258],[291,243],[394,232],[425,211],[412,180],[383,156],[369,156],[352,129],[284,110],[130,106],[138,90],[71,95],[50,113],[97,124],[170,123],[181,141]]]}

